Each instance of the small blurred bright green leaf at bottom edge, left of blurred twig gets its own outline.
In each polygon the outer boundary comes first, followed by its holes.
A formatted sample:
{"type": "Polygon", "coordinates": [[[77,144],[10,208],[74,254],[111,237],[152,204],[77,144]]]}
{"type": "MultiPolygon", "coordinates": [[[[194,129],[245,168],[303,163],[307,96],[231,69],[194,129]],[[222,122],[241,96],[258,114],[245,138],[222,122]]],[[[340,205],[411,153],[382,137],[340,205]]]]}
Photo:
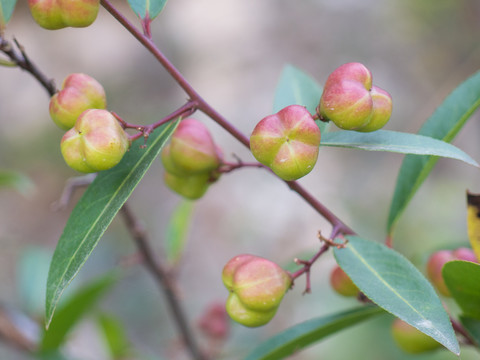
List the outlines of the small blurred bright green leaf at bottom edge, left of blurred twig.
{"type": "Polygon", "coordinates": [[[127,358],[131,344],[120,320],[114,316],[102,314],[99,316],[98,322],[105,335],[112,359],[127,358]]]}

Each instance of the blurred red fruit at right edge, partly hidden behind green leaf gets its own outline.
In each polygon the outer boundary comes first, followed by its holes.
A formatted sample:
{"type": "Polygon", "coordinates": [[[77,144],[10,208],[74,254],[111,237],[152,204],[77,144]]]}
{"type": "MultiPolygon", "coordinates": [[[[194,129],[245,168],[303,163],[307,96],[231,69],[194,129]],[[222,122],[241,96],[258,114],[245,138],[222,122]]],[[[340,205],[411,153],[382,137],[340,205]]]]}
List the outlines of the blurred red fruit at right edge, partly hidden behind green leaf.
{"type": "Polygon", "coordinates": [[[442,276],[442,268],[445,263],[453,260],[477,262],[473,250],[458,248],[456,250],[440,250],[433,253],[427,261],[427,276],[432,281],[438,292],[444,296],[451,296],[450,290],[442,276]]]}

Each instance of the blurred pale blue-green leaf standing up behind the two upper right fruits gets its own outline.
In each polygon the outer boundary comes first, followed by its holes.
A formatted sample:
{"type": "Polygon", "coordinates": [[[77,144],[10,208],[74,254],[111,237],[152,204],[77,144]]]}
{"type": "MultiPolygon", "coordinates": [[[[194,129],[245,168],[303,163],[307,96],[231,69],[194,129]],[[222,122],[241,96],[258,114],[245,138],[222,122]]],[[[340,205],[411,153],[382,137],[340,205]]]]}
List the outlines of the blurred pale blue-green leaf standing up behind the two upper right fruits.
{"type": "MultiPolygon", "coordinates": [[[[315,79],[292,65],[285,65],[275,90],[273,112],[276,113],[288,105],[302,105],[311,114],[315,114],[321,96],[322,87],[315,79]]],[[[328,123],[317,121],[317,124],[323,134],[328,123]]]]}

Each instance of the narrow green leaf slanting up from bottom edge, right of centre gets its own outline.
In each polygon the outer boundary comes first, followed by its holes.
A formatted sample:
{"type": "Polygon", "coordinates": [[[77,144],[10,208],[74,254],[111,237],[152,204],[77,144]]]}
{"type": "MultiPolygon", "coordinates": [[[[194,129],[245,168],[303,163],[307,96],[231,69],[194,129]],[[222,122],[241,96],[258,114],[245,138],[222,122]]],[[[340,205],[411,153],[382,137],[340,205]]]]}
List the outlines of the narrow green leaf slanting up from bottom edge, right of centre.
{"type": "Polygon", "coordinates": [[[383,310],[376,306],[363,306],[307,320],[260,344],[246,357],[246,360],[284,359],[329,335],[382,313],[383,310]]]}

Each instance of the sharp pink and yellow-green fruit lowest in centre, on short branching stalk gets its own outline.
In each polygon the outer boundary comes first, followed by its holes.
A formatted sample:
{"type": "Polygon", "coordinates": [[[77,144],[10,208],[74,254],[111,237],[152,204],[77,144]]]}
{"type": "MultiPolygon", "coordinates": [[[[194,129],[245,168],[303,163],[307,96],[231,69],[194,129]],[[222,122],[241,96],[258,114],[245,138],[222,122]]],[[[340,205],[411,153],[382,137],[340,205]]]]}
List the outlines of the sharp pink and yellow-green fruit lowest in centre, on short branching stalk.
{"type": "Polygon", "coordinates": [[[230,291],[228,314],[249,327],[265,325],[275,316],[292,283],[290,275],[274,262],[247,254],[225,265],[222,280],[230,291]]]}

